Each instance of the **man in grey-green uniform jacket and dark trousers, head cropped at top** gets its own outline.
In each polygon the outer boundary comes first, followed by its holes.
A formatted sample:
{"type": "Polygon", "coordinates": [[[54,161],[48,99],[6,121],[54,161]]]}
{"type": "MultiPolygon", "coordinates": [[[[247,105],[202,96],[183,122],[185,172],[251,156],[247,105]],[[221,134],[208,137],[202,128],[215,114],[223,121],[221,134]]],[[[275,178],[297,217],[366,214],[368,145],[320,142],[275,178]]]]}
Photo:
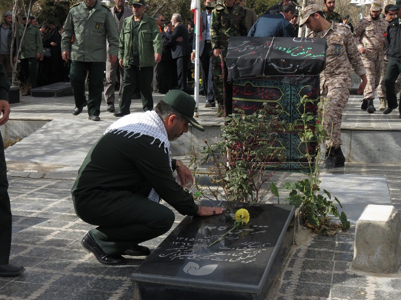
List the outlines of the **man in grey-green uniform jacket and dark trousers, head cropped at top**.
{"type": "Polygon", "coordinates": [[[61,55],[71,59],[70,82],[74,92],[73,115],[88,105],[89,119],[99,121],[103,78],[106,68],[106,39],[110,63],[117,61],[118,33],[110,8],[97,0],[84,0],[71,6],[61,35],[61,55]],[[71,40],[73,41],[71,42],[71,40]],[[89,96],[85,97],[88,72],[89,96]]]}

